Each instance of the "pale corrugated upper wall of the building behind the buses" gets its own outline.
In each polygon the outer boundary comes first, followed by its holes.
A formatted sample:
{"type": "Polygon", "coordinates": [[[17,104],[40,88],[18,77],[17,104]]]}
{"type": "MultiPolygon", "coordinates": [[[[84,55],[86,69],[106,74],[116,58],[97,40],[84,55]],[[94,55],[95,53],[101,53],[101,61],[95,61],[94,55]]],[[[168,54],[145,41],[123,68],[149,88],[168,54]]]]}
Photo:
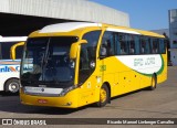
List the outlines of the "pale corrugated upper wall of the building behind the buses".
{"type": "Polygon", "coordinates": [[[129,26],[127,13],[88,0],[0,0],[0,12],[129,26]]]}

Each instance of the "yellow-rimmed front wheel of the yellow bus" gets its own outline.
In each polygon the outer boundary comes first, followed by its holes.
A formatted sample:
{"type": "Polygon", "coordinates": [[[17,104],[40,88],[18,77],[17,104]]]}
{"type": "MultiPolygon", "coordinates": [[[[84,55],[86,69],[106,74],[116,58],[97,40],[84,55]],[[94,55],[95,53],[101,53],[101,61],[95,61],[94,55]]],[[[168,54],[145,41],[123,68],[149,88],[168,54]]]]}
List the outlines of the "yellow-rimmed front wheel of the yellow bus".
{"type": "Polygon", "coordinates": [[[96,103],[97,107],[104,107],[110,100],[110,92],[106,84],[103,84],[100,90],[100,102],[96,103]]]}

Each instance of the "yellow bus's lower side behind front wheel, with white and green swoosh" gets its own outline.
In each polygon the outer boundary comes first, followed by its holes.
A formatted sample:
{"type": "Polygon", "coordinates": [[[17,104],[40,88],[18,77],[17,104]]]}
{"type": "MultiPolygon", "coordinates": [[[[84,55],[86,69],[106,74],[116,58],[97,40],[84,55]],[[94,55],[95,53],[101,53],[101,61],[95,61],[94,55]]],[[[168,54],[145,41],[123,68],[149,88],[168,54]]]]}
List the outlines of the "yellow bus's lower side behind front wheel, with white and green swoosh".
{"type": "Polygon", "coordinates": [[[154,73],[157,74],[157,83],[167,77],[166,55],[162,58],[160,55],[110,56],[102,61],[103,83],[111,85],[112,97],[150,86],[154,73]]]}

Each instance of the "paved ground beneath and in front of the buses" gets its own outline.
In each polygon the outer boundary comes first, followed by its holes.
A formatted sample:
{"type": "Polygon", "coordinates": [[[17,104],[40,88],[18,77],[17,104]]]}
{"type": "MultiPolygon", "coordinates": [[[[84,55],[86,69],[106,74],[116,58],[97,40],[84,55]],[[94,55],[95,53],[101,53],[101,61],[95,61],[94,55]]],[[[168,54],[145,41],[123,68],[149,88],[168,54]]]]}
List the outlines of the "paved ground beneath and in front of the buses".
{"type": "MultiPolygon", "coordinates": [[[[158,85],[155,90],[144,89],[116,97],[103,108],[86,106],[80,109],[61,109],[23,106],[20,104],[19,96],[0,94],[0,118],[177,118],[177,67],[168,67],[168,81],[158,85]]],[[[83,127],[83,125],[64,125],[64,127],[83,127]]],[[[84,127],[90,128],[93,125],[84,127]]],[[[113,127],[113,125],[95,127],[113,127]]],[[[114,125],[114,127],[117,126],[114,125]]],[[[146,125],[146,127],[149,126],[146,125]]],[[[175,128],[176,126],[164,127],[175,128]]]]}

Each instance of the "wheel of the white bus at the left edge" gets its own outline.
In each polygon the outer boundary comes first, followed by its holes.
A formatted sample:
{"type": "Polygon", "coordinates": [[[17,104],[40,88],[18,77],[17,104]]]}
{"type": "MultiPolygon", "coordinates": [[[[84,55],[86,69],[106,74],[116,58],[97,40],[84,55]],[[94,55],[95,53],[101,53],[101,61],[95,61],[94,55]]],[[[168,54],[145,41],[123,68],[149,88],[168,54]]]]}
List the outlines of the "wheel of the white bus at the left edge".
{"type": "Polygon", "coordinates": [[[4,85],[6,93],[15,94],[19,92],[19,88],[20,88],[20,83],[19,79],[15,78],[9,79],[4,85]]]}

